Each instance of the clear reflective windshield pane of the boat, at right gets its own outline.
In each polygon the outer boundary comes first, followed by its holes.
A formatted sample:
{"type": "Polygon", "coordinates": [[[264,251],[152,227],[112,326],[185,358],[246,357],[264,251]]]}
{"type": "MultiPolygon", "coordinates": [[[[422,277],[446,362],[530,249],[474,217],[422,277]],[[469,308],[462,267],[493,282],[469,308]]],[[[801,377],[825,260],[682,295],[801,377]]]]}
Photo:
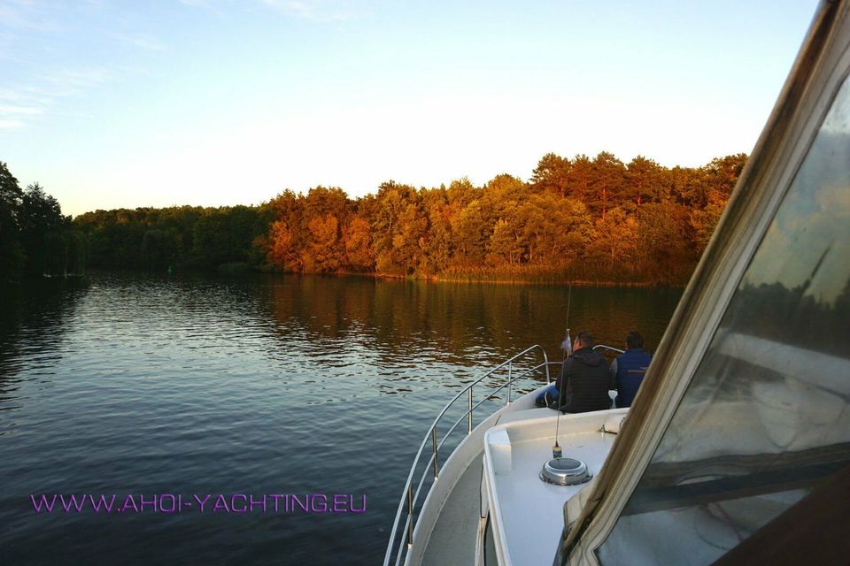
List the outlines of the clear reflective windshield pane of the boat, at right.
{"type": "Polygon", "coordinates": [[[848,401],[845,80],[599,561],[715,562],[850,465],[848,401]]]}

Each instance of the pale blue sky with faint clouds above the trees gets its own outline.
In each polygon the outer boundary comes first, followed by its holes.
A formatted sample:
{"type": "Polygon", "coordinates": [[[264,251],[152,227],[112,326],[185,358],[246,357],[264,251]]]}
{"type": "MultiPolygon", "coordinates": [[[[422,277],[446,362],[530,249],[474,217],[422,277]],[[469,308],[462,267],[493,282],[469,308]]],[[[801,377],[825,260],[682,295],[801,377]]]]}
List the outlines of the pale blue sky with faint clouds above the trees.
{"type": "Polygon", "coordinates": [[[0,162],[66,214],[749,153],[815,0],[0,0],[0,162]]]}

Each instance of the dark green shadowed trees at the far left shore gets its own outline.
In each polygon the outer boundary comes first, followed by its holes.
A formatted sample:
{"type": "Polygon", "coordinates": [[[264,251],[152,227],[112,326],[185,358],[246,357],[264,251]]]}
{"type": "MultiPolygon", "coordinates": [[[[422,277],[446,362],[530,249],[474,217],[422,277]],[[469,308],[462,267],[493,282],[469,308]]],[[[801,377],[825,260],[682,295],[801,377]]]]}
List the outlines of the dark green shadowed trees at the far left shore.
{"type": "Polygon", "coordinates": [[[79,274],[86,249],[85,235],[58,201],[38,183],[21,189],[0,162],[0,280],[79,274]]]}

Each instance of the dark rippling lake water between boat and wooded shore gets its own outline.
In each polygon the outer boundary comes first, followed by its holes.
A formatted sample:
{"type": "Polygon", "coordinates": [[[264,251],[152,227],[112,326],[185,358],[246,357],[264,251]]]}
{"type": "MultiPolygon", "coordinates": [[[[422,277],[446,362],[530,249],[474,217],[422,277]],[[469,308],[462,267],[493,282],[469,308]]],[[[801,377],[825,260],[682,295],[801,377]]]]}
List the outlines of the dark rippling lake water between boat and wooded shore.
{"type": "Polygon", "coordinates": [[[560,360],[568,303],[574,336],[622,347],[638,329],[653,349],[680,294],[128,273],[0,287],[0,563],[381,562],[413,453],[464,381],[534,343],[560,360]],[[36,513],[42,493],[213,500],[36,513]],[[366,509],[213,513],[219,493],[366,509]]]}

